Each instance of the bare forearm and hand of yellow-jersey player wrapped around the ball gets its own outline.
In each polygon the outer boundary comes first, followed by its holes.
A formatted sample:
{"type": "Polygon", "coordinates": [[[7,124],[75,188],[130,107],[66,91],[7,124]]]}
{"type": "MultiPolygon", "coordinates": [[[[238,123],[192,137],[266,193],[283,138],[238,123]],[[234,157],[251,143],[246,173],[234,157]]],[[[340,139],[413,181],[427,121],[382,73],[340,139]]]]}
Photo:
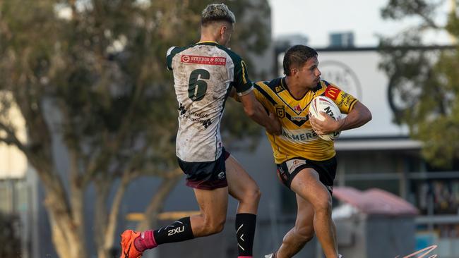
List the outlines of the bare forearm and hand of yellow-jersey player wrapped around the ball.
{"type": "Polygon", "coordinates": [[[325,117],[324,121],[320,121],[311,116],[309,117],[312,128],[319,135],[326,135],[337,131],[358,128],[371,120],[371,112],[360,102],[357,102],[347,116],[340,121],[335,121],[324,112],[321,112],[321,114],[325,117]]]}

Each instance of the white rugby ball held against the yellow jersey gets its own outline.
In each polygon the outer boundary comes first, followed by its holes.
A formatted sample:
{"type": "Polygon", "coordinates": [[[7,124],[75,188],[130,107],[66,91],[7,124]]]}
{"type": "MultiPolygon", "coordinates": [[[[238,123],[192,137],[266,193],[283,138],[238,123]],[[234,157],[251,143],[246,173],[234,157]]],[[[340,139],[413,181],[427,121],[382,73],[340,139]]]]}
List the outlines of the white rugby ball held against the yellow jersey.
{"type": "MultiPolygon", "coordinates": [[[[311,104],[309,104],[309,116],[314,116],[320,121],[324,121],[325,118],[322,116],[320,111],[325,112],[328,116],[331,116],[336,121],[341,120],[341,112],[338,106],[328,97],[318,96],[312,99],[311,104]]],[[[333,132],[328,135],[318,135],[323,140],[333,141],[340,137],[341,132],[333,132]]]]}

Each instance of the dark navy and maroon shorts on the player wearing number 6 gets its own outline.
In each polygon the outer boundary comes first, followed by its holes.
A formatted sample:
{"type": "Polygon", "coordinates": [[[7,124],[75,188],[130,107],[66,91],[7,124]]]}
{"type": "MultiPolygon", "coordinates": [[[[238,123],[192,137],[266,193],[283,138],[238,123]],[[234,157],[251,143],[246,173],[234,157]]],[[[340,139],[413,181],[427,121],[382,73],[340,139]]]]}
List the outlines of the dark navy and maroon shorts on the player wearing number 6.
{"type": "Polygon", "coordinates": [[[179,166],[186,175],[186,185],[191,188],[213,190],[228,186],[225,161],[229,152],[222,149],[222,154],[215,161],[186,162],[179,160],[179,166]]]}

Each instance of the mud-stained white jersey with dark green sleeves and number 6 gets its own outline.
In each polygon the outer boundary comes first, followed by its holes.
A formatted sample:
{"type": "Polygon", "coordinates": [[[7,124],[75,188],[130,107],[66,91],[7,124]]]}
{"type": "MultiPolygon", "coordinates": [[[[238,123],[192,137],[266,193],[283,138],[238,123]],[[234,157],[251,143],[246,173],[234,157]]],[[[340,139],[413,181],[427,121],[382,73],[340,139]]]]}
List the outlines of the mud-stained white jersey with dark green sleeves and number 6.
{"type": "Polygon", "coordinates": [[[179,102],[176,152],[182,161],[215,161],[222,154],[220,121],[231,87],[239,95],[253,87],[244,61],[215,42],[167,51],[179,102]]]}

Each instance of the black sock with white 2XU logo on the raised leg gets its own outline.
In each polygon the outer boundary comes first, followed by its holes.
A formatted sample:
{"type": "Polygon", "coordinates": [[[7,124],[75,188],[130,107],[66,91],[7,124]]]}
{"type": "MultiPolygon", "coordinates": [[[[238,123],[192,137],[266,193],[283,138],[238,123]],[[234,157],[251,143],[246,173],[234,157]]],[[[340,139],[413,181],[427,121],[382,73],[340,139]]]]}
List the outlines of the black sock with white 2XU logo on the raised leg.
{"type": "Polygon", "coordinates": [[[155,241],[158,245],[165,244],[167,242],[190,240],[194,238],[193,231],[191,231],[190,217],[181,218],[169,226],[157,229],[156,231],[153,231],[153,235],[155,236],[155,241]]]}

